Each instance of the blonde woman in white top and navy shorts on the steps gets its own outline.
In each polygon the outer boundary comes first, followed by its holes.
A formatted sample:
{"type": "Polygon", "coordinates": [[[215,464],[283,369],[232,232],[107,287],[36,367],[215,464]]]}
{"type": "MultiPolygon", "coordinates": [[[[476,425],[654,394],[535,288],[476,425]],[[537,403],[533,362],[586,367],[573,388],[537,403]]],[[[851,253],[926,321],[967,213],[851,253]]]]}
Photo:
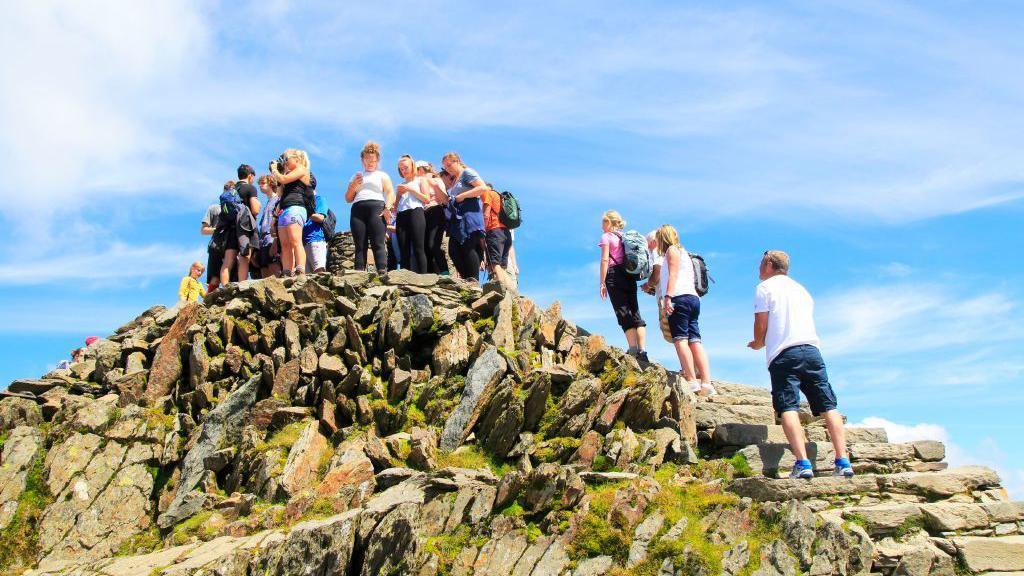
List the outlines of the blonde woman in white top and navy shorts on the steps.
{"type": "Polygon", "coordinates": [[[700,343],[700,328],[697,326],[700,298],[693,286],[693,261],[679,243],[676,229],[665,224],[657,229],[654,236],[657,239],[657,251],[664,255],[658,278],[662,311],[669,320],[679,366],[683,376],[690,382],[690,392],[714,396],[718,393],[711,383],[708,355],[700,343]]]}

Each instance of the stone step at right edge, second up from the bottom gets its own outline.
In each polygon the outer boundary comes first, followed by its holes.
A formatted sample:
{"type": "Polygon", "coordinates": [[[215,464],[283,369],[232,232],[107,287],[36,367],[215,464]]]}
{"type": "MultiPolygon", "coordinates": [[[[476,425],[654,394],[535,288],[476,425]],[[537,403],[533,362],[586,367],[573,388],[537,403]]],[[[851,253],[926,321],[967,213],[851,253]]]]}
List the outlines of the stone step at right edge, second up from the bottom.
{"type": "Polygon", "coordinates": [[[933,536],[1024,534],[1024,502],[925,502],[851,506],[842,519],[859,521],[871,536],[920,524],[933,536]]]}

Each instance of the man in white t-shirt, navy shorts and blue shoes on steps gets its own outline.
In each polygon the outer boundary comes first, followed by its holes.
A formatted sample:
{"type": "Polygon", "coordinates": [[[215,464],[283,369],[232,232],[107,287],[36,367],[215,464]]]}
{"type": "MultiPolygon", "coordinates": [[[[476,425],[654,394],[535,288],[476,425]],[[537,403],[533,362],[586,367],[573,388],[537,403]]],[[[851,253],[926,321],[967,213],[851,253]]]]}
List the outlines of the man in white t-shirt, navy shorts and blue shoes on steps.
{"type": "Polygon", "coordinates": [[[850,478],[849,454],[843,416],[837,410],[836,393],[828,383],[824,361],[818,352],[814,329],[814,300],[807,289],[788,276],[790,256],[767,250],[761,258],[761,284],[754,297],[754,339],[746,345],[765,348],[771,374],[771,401],[782,420],[785,439],[797,457],[790,478],[814,478],[807,459],[804,428],[800,425],[800,393],[807,397],[811,412],[822,416],[836,449],[835,476],[850,478]]]}

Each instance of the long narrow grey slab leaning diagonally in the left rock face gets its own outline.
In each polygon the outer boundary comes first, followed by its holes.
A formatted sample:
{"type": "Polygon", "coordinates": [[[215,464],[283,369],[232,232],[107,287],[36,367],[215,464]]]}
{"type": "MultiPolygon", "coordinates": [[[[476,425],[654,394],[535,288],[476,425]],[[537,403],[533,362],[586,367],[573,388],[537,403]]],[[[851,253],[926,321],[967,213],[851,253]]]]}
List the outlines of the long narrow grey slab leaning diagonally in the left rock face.
{"type": "Polygon", "coordinates": [[[161,528],[170,528],[202,507],[206,498],[201,493],[194,493],[193,489],[199,486],[202,480],[206,469],[204,461],[207,456],[219,450],[224,444],[232,442],[237,437],[249,410],[256,403],[258,388],[259,376],[253,376],[207,414],[196,445],[185,454],[181,463],[181,481],[174,500],[167,511],[157,519],[157,524],[161,528]]]}

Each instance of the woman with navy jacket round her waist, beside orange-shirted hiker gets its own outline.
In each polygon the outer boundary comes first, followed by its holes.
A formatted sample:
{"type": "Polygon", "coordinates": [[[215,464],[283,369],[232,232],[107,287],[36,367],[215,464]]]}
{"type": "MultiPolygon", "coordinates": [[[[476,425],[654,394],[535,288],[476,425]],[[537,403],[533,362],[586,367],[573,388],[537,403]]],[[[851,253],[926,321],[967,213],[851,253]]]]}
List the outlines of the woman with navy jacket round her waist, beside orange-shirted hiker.
{"type": "Polygon", "coordinates": [[[487,190],[487,184],[454,152],[441,158],[441,167],[454,182],[449,189],[449,254],[459,271],[459,277],[476,283],[480,281],[480,262],[483,260],[483,207],[480,196],[487,190]]]}

